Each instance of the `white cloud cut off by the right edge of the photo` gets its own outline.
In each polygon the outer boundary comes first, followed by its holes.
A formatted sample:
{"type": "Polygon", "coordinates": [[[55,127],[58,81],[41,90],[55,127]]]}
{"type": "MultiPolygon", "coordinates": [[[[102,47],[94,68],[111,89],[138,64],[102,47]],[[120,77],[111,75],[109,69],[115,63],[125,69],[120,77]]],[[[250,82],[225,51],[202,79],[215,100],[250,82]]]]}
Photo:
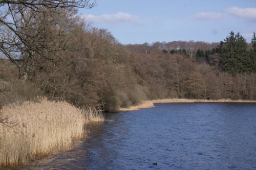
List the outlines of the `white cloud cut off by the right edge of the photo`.
{"type": "Polygon", "coordinates": [[[227,12],[233,16],[256,20],[256,8],[228,8],[227,12]]]}

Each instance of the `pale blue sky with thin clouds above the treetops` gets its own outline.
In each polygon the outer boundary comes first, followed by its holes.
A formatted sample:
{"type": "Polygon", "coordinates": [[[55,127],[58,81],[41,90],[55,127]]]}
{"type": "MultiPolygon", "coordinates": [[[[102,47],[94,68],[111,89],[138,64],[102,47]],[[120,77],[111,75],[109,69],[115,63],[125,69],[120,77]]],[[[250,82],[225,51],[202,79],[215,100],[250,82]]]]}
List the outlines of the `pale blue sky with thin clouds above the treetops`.
{"type": "Polygon", "coordinates": [[[78,13],[122,44],[223,41],[231,31],[250,42],[256,32],[255,0],[96,0],[78,13]]]}

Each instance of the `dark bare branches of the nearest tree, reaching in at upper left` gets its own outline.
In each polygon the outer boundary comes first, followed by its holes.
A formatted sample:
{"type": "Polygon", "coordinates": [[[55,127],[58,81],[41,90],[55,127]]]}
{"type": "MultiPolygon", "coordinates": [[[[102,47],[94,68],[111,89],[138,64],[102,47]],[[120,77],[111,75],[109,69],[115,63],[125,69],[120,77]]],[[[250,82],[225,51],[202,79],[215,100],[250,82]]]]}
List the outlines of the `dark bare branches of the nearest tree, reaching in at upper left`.
{"type": "Polygon", "coordinates": [[[72,13],[75,8],[92,8],[95,1],[90,0],[0,0],[0,52],[28,78],[30,65],[40,62],[35,56],[49,59],[49,51],[63,50],[63,47],[47,45],[52,37],[67,31],[53,22],[53,16],[72,13]],[[56,35],[49,34],[49,26],[57,28],[56,35]],[[51,48],[49,48],[51,47],[51,48]],[[55,47],[55,48],[54,48],[55,47]]]}

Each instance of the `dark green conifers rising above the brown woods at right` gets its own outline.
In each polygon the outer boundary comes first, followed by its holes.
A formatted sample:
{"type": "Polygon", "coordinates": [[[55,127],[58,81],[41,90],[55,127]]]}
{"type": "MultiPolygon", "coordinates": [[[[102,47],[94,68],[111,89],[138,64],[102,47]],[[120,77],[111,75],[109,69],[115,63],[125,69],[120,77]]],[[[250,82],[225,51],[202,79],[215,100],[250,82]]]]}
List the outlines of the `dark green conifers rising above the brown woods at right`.
{"type": "Polygon", "coordinates": [[[203,51],[198,49],[196,58],[205,58],[208,64],[216,65],[221,70],[235,76],[246,72],[247,74],[256,72],[255,65],[256,37],[253,33],[250,46],[246,43],[245,38],[240,34],[230,32],[229,36],[224,41],[221,41],[216,48],[203,51]],[[218,55],[218,63],[212,63],[212,55],[218,55]]]}

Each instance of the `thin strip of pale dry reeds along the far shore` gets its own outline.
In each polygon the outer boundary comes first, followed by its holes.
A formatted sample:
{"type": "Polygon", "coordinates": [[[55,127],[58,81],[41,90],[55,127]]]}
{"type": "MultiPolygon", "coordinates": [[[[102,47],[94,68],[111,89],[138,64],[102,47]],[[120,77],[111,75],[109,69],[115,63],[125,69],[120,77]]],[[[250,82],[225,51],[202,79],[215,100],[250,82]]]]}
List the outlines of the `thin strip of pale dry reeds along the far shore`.
{"type": "Polygon", "coordinates": [[[129,108],[120,108],[119,111],[135,111],[139,109],[155,107],[155,103],[256,103],[251,100],[230,100],[230,99],[218,99],[218,100],[206,100],[206,99],[157,99],[143,101],[141,104],[131,106],[129,108]]]}

